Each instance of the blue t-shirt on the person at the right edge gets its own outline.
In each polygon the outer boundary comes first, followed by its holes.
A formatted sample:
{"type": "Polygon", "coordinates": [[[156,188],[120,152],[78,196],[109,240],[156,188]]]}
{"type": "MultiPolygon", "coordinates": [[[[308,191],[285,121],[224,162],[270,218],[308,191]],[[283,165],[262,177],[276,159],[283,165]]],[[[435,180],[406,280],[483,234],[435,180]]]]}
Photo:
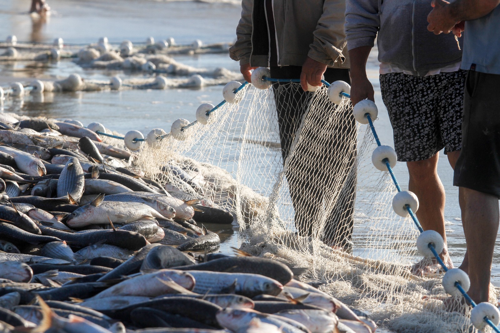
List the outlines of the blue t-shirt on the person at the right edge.
{"type": "Polygon", "coordinates": [[[462,69],[500,74],[500,5],[489,14],[466,21],[463,40],[462,69]]]}

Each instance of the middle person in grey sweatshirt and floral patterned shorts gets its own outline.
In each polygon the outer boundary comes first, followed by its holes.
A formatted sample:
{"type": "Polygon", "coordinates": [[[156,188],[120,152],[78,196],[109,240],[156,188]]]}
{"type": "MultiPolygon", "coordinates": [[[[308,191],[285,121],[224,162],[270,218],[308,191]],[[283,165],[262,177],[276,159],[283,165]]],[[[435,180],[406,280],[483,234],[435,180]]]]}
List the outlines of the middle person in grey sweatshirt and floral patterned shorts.
{"type": "MultiPolygon", "coordinates": [[[[444,187],[437,174],[439,150],[454,168],[461,146],[462,92],[466,72],[453,38],[429,33],[430,0],[347,0],[345,32],[351,59],[350,100],[373,99],[366,60],[377,37],[380,90],[394,132],[397,160],[406,162],[408,189],[416,194],[418,220],[445,241],[440,253],[452,267],[444,231],[444,187]]],[[[413,265],[416,275],[435,273],[435,259],[413,265]]]]}

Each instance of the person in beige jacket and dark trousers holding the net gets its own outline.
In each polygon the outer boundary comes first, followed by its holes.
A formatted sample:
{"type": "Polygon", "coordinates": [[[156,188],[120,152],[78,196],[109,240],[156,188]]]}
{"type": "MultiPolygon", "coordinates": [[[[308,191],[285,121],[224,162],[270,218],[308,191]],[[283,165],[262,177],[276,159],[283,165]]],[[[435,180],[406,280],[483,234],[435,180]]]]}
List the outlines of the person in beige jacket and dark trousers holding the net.
{"type": "Polygon", "coordinates": [[[344,0],[243,0],[237,40],[229,49],[249,81],[250,70],[270,67],[279,137],[288,188],[300,236],[333,248],[351,246],[355,197],[355,122],[349,107],[335,109],[326,95],[306,91],[307,83],[349,82],[344,0]],[[318,107],[306,112],[312,97],[318,107]],[[304,114],[307,114],[304,117],[304,114]],[[335,119],[332,119],[335,117],[335,119]],[[300,139],[296,138],[299,126],[300,139]]]}

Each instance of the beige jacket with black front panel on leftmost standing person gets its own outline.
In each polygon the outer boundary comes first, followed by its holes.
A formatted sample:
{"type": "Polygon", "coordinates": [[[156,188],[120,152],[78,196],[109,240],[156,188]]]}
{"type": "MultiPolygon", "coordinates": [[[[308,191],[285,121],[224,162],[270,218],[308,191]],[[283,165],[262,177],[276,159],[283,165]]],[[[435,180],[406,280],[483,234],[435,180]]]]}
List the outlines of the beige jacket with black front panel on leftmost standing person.
{"type": "MultiPolygon", "coordinates": [[[[229,56],[240,64],[268,67],[269,43],[263,0],[242,0],[237,40],[229,56]]],[[[301,66],[306,57],[349,68],[345,46],[345,0],[274,0],[278,64],[301,66]]]]}

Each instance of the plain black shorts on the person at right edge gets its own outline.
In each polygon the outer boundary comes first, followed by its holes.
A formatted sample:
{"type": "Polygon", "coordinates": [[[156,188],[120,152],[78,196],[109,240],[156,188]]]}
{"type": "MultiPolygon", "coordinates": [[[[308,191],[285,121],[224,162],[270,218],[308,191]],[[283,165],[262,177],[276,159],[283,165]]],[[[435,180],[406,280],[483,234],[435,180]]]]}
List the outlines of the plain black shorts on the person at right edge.
{"type": "Polygon", "coordinates": [[[500,74],[470,71],[453,185],[500,197],[500,74]]]}

